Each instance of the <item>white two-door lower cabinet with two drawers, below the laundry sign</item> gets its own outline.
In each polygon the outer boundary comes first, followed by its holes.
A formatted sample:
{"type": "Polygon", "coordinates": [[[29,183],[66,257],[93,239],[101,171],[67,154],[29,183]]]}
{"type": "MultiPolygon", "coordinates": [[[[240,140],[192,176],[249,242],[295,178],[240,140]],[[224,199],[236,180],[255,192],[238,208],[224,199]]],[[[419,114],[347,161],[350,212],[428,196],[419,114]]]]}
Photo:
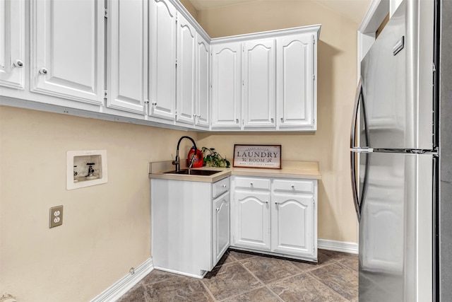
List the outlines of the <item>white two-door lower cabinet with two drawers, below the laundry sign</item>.
{"type": "Polygon", "coordinates": [[[317,180],[232,176],[231,245],[317,260],[317,180]]]}

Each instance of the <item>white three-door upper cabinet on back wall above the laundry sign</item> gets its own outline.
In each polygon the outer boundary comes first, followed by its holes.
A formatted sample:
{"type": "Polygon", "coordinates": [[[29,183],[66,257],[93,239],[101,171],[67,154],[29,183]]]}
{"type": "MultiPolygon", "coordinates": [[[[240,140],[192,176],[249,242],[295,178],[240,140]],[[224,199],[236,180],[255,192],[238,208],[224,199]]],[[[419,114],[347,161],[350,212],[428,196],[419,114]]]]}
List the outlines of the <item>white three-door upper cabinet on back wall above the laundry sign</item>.
{"type": "Polygon", "coordinates": [[[315,131],[320,27],[213,39],[211,129],[315,131]]]}

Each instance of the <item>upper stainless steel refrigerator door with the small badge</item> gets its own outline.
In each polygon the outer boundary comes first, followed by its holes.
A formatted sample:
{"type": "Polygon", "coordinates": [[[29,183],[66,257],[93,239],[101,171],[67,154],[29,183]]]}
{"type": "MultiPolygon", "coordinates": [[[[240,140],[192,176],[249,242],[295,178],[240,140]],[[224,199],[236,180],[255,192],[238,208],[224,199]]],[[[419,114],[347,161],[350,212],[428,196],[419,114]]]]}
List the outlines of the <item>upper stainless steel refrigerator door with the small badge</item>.
{"type": "Polygon", "coordinates": [[[373,149],[432,149],[433,13],[412,17],[429,2],[403,1],[362,60],[373,149]]]}

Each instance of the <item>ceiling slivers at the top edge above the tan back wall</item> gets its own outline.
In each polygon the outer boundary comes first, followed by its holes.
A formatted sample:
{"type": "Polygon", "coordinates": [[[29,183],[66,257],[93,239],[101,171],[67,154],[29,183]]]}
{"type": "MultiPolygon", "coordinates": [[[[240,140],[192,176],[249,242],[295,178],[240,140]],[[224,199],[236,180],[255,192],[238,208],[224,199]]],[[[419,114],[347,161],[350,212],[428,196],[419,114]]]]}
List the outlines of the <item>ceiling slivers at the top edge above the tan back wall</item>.
{"type": "MultiPolygon", "coordinates": [[[[259,0],[189,0],[191,4],[198,10],[202,11],[208,8],[216,8],[220,6],[229,6],[232,4],[242,4],[245,2],[259,1],[259,0]]],[[[281,1],[281,0],[273,0],[281,1]]],[[[321,6],[335,11],[339,15],[361,23],[362,18],[366,14],[367,9],[371,4],[371,0],[297,0],[297,1],[312,1],[321,6]]]]}

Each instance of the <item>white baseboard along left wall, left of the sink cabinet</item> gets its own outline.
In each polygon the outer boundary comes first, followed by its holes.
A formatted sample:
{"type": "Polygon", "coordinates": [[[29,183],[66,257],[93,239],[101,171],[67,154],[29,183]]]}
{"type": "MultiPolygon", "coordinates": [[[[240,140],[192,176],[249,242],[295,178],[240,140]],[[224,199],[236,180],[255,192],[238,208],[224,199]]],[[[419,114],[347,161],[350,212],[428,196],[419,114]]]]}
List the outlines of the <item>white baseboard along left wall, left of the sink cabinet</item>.
{"type": "Polygon", "coordinates": [[[152,272],[153,258],[150,257],[145,262],[138,265],[136,269],[133,270],[133,274],[129,273],[126,276],[119,279],[115,284],[110,286],[108,289],[102,292],[99,296],[93,298],[91,302],[112,302],[121,298],[127,291],[129,291],[135,284],[137,284],[141,279],[143,279],[147,274],[152,272]]]}

